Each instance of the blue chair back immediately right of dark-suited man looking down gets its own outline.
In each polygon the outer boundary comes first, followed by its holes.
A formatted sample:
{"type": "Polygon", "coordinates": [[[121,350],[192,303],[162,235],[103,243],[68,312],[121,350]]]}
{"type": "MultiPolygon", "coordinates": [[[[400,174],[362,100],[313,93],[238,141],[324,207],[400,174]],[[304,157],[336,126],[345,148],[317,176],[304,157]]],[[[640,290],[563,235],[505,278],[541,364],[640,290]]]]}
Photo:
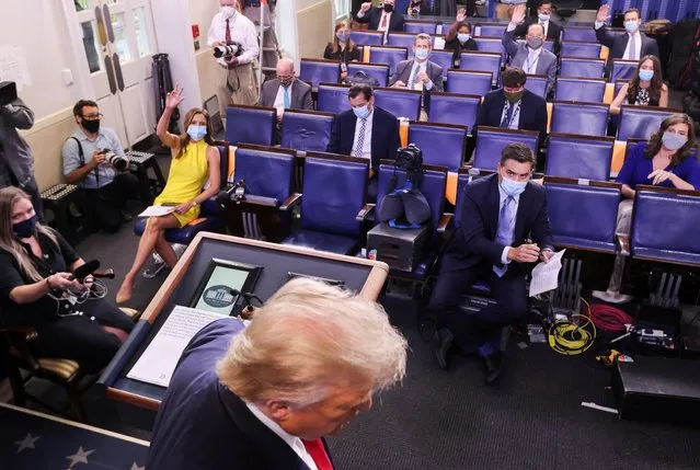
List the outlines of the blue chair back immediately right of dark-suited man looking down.
{"type": "Polygon", "coordinates": [[[467,127],[454,124],[411,123],[409,142],[423,150],[425,164],[447,167],[449,171],[457,171],[464,161],[467,127]]]}

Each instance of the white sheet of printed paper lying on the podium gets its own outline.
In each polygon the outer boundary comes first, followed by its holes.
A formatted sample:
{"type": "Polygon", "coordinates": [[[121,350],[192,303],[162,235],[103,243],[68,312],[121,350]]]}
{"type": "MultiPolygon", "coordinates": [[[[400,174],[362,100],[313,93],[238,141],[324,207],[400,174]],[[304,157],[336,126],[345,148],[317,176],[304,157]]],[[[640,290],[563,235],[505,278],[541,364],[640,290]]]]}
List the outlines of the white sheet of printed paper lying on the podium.
{"type": "Polygon", "coordinates": [[[126,375],[129,379],[168,387],[175,366],[190,340],[221,314],[175,306],[148,345],[141,357],[126,375]]]}

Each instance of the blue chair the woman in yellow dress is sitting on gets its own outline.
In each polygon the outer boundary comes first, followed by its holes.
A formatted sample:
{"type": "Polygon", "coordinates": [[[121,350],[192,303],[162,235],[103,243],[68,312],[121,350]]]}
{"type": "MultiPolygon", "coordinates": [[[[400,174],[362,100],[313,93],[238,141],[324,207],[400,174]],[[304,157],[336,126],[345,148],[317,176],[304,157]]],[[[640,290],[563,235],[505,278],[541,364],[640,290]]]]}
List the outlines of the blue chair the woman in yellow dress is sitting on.
{"type": "MultiPolygon", "coordinates": [[[[219,190],[225,191],[227,188],[227,175],[229,174],[229,146],[228,144],[222,146],[217,145],[217,150],[219,150],[221,172],[219,190]]],[[[220,230],[223,225],[222,213],[219,203],[214,199],[205,200],[199,208],[199,218],[193,220],[185,227],[167,229],[165,240],[169,243],[190,244],[200,231],[216,232],[220,230]]],[[[134,225],[134,233],[138,237],[144,234],[147,220],[147,218],[140,218],[134,225]]]]}

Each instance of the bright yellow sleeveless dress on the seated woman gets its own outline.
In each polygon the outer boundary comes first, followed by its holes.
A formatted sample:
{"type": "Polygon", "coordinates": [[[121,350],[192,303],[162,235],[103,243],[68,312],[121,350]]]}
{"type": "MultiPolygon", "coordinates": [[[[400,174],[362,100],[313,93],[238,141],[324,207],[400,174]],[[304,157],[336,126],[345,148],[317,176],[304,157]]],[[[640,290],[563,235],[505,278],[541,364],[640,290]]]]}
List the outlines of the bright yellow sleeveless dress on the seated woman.
{"type": "MultiPolygon", "coordinates": [[[[182,157],[173,157],[168,183],[153,205],[179,205],[193,200],[202,193],[202,188],[209,179],[208,148],[209,145],[204,139],[198,142],[191,141],[182,157]]],[[[180,221],[180,227],[184,227],[199,217],[199,206],[194,206],[185,214],[172,213],[172,215],[180,221]]]]}

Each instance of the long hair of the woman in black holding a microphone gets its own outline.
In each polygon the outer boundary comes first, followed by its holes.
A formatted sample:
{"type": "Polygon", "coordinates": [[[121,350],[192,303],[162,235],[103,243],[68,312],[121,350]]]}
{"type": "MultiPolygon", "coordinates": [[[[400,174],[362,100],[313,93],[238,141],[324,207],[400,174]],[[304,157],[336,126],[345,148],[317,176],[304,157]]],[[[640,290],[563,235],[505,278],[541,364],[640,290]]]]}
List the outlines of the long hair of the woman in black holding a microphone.
{"type": "MultiPolygon", "coordinates": [[[[28,194],[19,187],[9,186],[0,190],[0,249],[12,254],[20,265],[20,270],[22,270],[30,279],[37,283],[44,277],[36,271],[32,259],[26,254],[26,251],[22,244],[20,244],[20,241],[12,230],[12,208],[20,199],[32,200],[28,194]]],[[[56,234],[54,234],[50,228],[36,223],[36,232],[43,234],[49,239],[54,245],[58,247],[56,234]]]]}

